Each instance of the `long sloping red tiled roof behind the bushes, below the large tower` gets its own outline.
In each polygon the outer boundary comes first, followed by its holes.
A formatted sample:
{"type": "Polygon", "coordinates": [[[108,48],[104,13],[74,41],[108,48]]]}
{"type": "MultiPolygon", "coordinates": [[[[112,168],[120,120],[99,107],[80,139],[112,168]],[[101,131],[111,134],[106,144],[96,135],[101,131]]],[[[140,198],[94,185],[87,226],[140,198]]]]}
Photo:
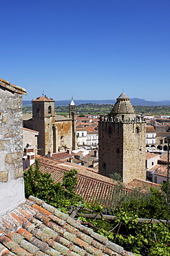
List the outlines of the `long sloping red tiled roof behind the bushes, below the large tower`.
{"type": "MultiPolygon", "coordinates": [[[[96,170],[92,168],[74,165],[74,163],[64,163],[43,156],[39,158],[39,168],[43,173],[50,173],[55,183],[62,181],[64,172],[69,172],[70,170],[75,169],[78,172],[76,192],[80,194],[85,201],[95,200],[105,206],[108,204],[111,205],[113,201],[114,189],[117,184],[116,181],[98,174],[96,170]]],[[[144,181],[142,181],[142,183],[143,182],[144,181]]],[[[138,187],[138,185],[136,185],[136,187],[138,187]]],[[[125,184],[123,192],[131,192],[131,186],[125,184]]]]}

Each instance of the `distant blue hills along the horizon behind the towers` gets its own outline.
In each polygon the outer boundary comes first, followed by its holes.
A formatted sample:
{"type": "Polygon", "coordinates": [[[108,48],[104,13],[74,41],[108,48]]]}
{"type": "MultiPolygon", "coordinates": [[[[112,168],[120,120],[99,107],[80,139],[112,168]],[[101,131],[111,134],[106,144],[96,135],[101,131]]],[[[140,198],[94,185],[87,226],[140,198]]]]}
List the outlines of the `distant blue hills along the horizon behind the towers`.
{"type": "MultiPolygon", "coordinates": [[[[116,100],[74,100],[76,105],[94,103],[94,104],[114,104],[116,100]]],[[[56,100],[55,106],[67,106],[70,100],[56,100]]],[[[170,106],[170,100],[147,101],[139,98],[131,98],[131,104],[134,106],[170,106]]],[[[30,100],[23,100],[23,107],[32,106],[30,100]]]]}

